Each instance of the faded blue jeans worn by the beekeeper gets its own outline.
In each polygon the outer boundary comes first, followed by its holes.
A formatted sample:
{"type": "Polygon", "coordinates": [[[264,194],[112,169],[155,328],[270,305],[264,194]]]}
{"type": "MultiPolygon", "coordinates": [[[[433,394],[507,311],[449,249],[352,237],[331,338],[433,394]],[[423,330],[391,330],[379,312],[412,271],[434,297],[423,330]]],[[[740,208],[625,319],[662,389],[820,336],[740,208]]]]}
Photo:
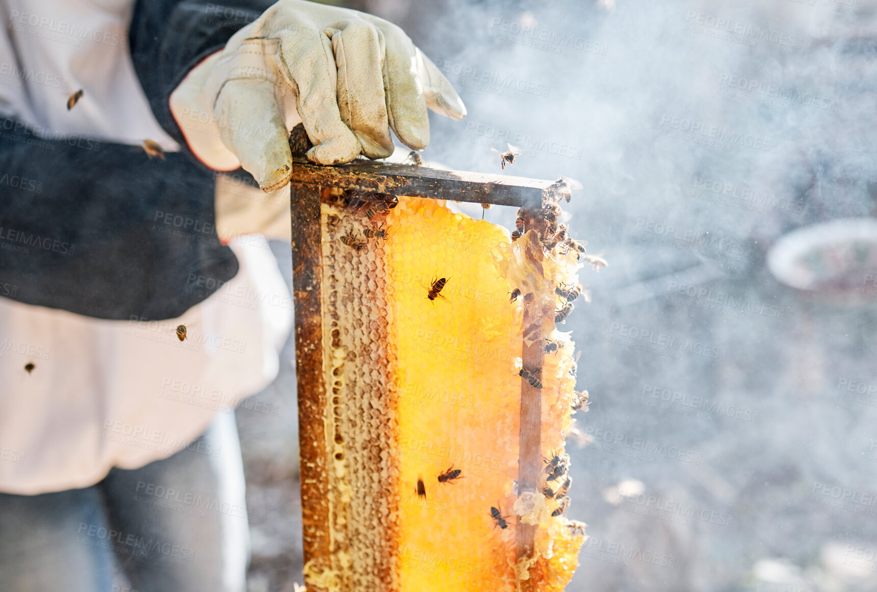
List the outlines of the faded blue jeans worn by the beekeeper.
{"type": "Polygon", "coordinates": [[[91,487],[0,494],[4,592],[112,592],[114,560],[138,592],[243,592],[249,532],[232,413],[181,452],[91,487]]]}

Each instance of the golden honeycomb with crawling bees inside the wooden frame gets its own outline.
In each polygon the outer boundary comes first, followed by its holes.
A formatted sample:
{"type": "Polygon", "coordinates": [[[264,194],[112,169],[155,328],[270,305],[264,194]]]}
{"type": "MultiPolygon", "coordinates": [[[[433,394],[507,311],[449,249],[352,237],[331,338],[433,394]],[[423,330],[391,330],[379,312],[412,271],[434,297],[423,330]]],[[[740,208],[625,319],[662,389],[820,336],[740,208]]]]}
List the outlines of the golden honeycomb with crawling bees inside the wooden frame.
{"type": "Polygon", "coordinates": [[[332,567],[305,575],[326,590],[563,589],[585,536],[554,496],[576,397],[555,288],[577,283],[579,257],[544,232],[513,241],[443,201],[380,195],[322,204],[332,567]],[[524,397],[538,415],[522,432],[524,397]]]}

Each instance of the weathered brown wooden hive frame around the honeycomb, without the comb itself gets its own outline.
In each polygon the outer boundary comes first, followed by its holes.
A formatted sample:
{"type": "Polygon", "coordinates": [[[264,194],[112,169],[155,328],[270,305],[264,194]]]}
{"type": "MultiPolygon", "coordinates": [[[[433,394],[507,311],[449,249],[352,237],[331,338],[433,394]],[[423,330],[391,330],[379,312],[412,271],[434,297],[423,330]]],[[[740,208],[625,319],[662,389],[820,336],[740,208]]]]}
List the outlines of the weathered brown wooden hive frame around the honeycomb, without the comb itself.
{"type": "MultiPolygon", "coordinates": [[[[540,208],[543,191],[552,183],[366,160],[339,166],[307,162],[293,165],[290,187],[303,551],[305,564],[312,561],[311,566],[317,572],[330,567],[332,553],[328,530],[328,451],[325,449],[322,412],[326,408],[326,390],[320,293],[321,196],[328,197],[332,187],[337,187],[436,200],[540,208]]],[[[525,347],[522,336],[522,356],[524,366],[539,367],[542,348],[538,345],[525,347]]],[[[542,469],[539,449],[541,395],[526,380],[521,381],[520,425],[518,483],[522,489],[536,490],[542,469]]],[[[531,557],[534,532],[533,526],[517,525],[518,559],[531,557]]],[[[309,590],[321,589],[306,583],[309,590]]]]}

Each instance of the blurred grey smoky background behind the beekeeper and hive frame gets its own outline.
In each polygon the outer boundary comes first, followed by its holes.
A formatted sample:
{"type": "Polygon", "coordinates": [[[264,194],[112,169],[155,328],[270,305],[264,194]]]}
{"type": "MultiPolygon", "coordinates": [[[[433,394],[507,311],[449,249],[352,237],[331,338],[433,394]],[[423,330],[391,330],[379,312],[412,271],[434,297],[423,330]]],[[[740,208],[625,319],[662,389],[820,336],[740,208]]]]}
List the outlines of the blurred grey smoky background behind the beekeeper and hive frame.
{"type": "MultiPolygon", "coordinates": [[[[466,102],[424,159],[500,173],[510,143],[504,173],[583,185],[568,223],[610,267],[561,327],[592,401],[567,589],[877,590],[877,3],[340,4],[401,25],[466,102]]],[[[283,358],[237,412],[250,592],[303,581],[283,358]]]]}

